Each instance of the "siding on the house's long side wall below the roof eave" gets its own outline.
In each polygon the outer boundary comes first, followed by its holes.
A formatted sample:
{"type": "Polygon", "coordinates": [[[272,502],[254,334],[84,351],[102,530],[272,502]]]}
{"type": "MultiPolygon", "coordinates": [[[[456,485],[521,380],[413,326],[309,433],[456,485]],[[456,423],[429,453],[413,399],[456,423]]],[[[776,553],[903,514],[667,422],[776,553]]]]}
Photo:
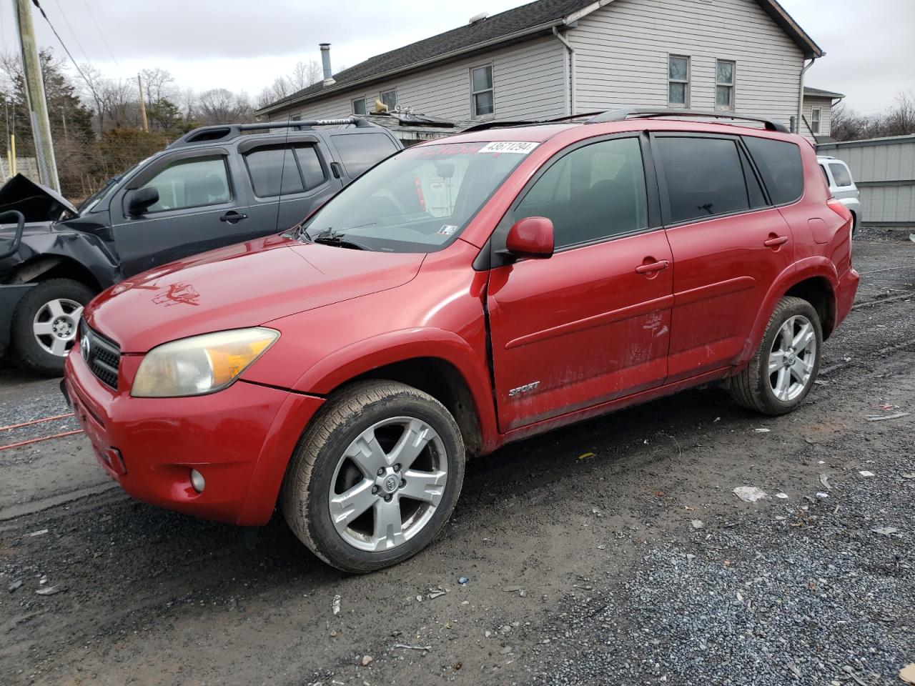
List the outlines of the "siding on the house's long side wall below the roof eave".
{"type": "Polygon", "coordinates": [[[397,89],[397,103],[414,113],[467,120],[470,115],[470,68],[492,64],[493,97],[497,119],[560,116],[568,103],[566,50],[555,38],[538,38],[479,57],[380,81],[321,102],[304,103],[284,112],[303,119],[342,117],[352,113],[351,102],[365,98],[369,111],[381,91],[397,89]]]}

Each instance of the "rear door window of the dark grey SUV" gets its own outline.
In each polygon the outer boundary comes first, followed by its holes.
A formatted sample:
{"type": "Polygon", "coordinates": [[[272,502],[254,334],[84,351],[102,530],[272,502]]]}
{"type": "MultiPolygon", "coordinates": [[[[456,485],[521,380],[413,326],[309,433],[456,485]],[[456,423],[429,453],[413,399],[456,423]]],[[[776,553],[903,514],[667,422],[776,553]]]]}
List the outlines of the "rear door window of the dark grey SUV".
{"type": "Polygon", "coordinates": [[[244,159],[258,198],[301,193],[324,183],[324,169],[313,145],[296,145],[292,149],[284,145],[259,147],[244,159]]]}

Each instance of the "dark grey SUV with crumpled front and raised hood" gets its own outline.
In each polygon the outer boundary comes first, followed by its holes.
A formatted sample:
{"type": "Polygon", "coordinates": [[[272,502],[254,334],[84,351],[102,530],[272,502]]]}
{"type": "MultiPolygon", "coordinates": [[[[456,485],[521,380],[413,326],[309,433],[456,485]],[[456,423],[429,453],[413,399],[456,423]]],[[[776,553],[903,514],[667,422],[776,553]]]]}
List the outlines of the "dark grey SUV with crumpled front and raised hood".
{"type": "Polygon", "coordinates": [[[359,117],[205,126],[79,209],[14,177],[0,188],[0,352],[12,345],[27,368],[61,373],[93,295],[160,264],[285,230],[402,147],[359,117]]]}

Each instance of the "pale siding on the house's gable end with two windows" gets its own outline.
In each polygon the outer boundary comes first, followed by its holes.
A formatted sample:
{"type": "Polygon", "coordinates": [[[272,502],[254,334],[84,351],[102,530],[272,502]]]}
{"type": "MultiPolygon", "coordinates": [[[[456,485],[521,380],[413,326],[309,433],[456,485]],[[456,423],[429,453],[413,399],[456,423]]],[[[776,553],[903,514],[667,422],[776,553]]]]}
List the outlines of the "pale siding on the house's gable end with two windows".
{"type": "Polygon", "coordinates": [[[715,61],[737,63],[737,113],[788,125],[803,55],[755,0],[614,0],[568,33],[576,112],[667,106],[668,55],[690,57],[690,107],[715,109],[715,61]]]}

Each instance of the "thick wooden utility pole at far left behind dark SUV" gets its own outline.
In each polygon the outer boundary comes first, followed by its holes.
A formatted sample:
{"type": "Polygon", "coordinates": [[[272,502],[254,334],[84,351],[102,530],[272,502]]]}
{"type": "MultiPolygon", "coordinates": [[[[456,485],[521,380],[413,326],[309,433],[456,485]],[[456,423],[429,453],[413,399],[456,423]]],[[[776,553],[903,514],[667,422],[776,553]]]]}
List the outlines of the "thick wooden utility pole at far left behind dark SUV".
{"type": "Polygon", "coordinates": [[[35,43],[35,28],[29,0],[13,0],[13,12],[19,28],[19,48],[22,51],[22,72],[26,78],[26,99],[35,136],[35,156],[38,158],[38,177],[41,183],[60,192],[54,145],[51,141],[51,124],[48,121],[48,102],[45,100],[45,82],[41,78],[41,60],[35,43]]]}

